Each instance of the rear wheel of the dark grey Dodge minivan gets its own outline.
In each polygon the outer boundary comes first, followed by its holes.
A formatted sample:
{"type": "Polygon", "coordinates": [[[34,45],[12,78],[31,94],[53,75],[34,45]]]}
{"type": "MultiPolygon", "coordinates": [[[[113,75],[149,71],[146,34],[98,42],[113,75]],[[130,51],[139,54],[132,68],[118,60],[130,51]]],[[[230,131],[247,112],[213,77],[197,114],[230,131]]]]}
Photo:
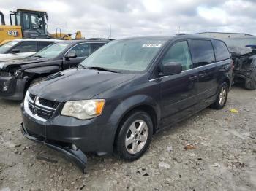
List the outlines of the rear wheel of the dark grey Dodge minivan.
{"type": "Polygon", "coordinates": [[[211,108],[213,109],[222,109],[227,103],[228,96],[228,85],[226,82],[223,82],[222,85],[219,86],[219,93],[217,96],[217,100],[214,104],[211,104],[211,108]]]}

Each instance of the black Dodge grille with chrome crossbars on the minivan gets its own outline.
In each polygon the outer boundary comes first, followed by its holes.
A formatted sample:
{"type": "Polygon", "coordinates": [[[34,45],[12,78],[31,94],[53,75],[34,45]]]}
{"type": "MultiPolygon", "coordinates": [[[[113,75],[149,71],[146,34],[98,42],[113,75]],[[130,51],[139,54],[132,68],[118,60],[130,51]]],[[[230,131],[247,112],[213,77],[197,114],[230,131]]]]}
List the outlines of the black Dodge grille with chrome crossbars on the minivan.
{"type": "Polygon", "coordinates": [[[50,101],[44,98],[39,98],[36,95],[29,93],[28,108],[32,115],[40,117],[44,120],[49,120],[53,117],[59,102],[50,101]]]}

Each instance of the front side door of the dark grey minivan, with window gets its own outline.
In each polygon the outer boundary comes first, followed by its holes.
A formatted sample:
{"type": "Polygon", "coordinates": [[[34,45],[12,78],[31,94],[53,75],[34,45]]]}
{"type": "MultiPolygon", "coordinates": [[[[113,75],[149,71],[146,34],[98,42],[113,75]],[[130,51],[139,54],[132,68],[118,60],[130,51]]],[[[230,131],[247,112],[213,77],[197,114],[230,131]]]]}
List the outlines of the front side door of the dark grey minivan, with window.
{"type": "Polygon", "coordinates": [[[160,82],[164,126],[188,116],[197,104],[198,73],[197,69],[192,69],[187,40],[176,42],[165,53],[161,64],[170,62],[181,63],[182,72],[162,77],[160,82]]]}

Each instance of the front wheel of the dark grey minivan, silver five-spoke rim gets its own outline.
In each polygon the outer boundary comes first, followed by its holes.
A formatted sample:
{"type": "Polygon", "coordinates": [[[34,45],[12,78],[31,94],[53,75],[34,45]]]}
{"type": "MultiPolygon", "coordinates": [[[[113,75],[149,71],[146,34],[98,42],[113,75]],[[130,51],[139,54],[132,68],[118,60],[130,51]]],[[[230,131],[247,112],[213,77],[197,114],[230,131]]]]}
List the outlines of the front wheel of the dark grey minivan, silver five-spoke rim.
{"type": "Polygon", "coordinates": [[[116,154],[124,160],[137,160],[148,149],[152,135],[153,122],[146,112],[135,111],[129,114],[118,131],[116,154]]]}

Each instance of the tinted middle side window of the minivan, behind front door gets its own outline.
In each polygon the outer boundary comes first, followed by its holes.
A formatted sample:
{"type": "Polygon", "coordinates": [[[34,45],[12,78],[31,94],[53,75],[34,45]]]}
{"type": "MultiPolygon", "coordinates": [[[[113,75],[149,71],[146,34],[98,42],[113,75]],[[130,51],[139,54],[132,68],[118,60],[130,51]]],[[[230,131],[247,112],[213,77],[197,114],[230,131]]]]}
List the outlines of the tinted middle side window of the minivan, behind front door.
{"type": "Polygon", "coordinates": [[[189,45],[194,67],[204,66],[215,61],[211,40],[192,39],[189,41],[189,45]]]}

